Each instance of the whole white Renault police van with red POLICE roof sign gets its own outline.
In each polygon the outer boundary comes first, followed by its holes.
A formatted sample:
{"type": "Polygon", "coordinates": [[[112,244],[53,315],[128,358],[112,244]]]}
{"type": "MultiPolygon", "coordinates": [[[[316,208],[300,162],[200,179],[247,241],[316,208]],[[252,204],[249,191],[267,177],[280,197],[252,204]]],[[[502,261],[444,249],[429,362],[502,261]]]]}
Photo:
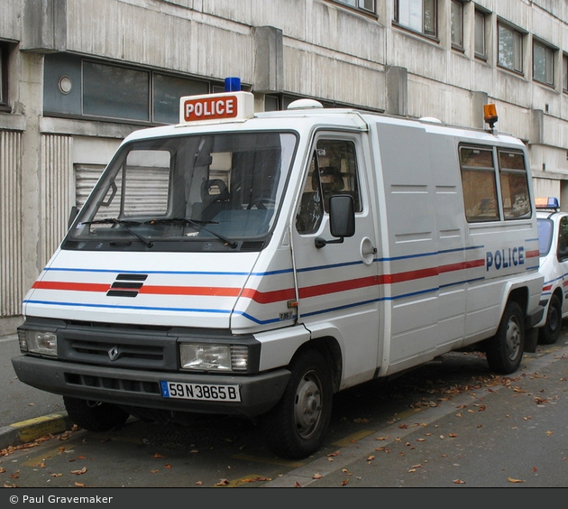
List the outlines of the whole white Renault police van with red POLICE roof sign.
{"type": "Polygon", "coordinates": [[[504,374],[534,351],[518,139],[313,100],[254,113],[243,91],[180,106],[124,140],[23,302],[15,372],[78,426],[239,414],[302,458],[338,391],[452,350],[504,374]]]}

